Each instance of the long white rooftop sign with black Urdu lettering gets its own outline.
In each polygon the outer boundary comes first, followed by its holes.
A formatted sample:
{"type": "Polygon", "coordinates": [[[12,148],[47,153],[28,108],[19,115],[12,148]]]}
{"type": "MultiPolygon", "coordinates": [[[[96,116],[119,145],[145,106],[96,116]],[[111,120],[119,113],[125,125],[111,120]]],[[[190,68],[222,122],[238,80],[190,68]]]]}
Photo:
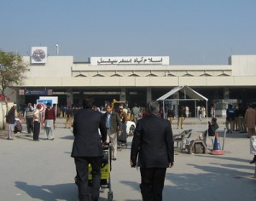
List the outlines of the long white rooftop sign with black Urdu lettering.
{"type": "Polygon", "coordinates": [[[90,65],[169,65],[169,56],[90,57],[90,65]]]}

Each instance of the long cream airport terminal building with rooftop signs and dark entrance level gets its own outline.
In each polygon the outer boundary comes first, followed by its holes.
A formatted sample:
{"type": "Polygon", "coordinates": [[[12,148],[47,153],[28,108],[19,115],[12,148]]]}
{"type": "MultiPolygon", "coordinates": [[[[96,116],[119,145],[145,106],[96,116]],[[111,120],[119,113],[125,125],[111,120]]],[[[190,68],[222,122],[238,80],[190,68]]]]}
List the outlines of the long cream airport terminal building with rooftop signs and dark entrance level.
{"type": "MultiPolygon", "coordinates": [[[[126,100],[130,107],[145,106],[183,85],[207,97],[209,104],[256,102],[256,55],[231,55],[227,65],[173,66],[168,56],[90,57],[76,62],[73,56],[47,56],[46,47],[34,47],[24,60],[30,71],[12,96],[20,104],[53,95],[59,106],[76,105],[83,95],[93,95],[98,106],[113,99],[126,100]]],[[[181,96],[173,98],[186,98],[181,96]]]]}

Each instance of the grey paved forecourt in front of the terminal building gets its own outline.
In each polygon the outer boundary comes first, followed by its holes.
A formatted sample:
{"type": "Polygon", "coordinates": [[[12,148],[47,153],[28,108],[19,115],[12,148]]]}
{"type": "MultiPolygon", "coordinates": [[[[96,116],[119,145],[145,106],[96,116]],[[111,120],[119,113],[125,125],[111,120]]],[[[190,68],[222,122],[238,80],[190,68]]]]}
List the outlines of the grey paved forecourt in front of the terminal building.
{"type": "MultiPolygon", "coordinates": [[[[224,119],[218,123],[222,145],[224,119]]],[[[44,141],[44,132],[41,141],[32,141],[26,133],[15,135],[15,141],[7,141],[5,131],[0,131],[0,200],[77,200],[75,168],[70,158],[73,135],[63,128],[63,120],[58,120],[58,127],[55,141],[44,141]]],[[[193,129],[196,137],[207,129],[207,120],[186,119],[183,129],[193,129]]],[[[180,132],[174,125],[173,133],[180,132]]],[[[128,148],[118,152],[118,160],[113,162],[113,200],[142,200],[139,171],[129,164],[130,146],[131,137],[128,148]]],[[[253,156],[249,154],[246,134],[227,135],[224,150],[222,156],[190,155],[177,150],[174,167],[167,169],[163,200],[255,200],[255,165],[248,164],[253,156]]],[[[106,190],[100,200],[107,198],[106,190]]]]}

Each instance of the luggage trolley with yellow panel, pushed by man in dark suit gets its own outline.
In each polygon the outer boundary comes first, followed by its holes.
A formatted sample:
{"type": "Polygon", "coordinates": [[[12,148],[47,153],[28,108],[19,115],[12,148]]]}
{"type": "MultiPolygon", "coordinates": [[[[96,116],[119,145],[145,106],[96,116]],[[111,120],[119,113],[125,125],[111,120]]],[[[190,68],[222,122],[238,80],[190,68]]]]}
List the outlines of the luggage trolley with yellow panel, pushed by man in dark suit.
{"type": "MultiPolygon", "coordinates": [[[[102,158],[102,168],[101,168],[101,192],[105,192],[105,189],[108,189],[108,200],[113,200],[113,192],[111,188],[111,176],[110,172],[112,169],[111,166],[112,160],[112,144],[108,143],[107,146],[103,146],[103,158],[102,158]]],[[[88,167],[88,183],[89,187],[92,186],[92,175],[91,175],[91,165],[88,167]]],[[[77,178],[75,177],[75,183],[77,184],[77,178]]]]}

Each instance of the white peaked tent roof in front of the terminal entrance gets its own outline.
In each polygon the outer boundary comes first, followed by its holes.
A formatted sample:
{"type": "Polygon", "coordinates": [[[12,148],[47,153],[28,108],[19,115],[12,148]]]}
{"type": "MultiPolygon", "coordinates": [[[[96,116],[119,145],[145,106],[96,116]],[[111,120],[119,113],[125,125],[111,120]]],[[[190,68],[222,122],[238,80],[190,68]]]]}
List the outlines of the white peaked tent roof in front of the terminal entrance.
{"type": "Polygon", "coordinates": [[[205,96],[199,94],[195,90],[189,88],[189,86],[184,85],[184,86],[177,86],[173,88],[171,91],[167,92],[165,95],[162,95],[160,98],[157,100],[167,100],[171,95],[174,95],[178,91],[181,91],[184,96],[188,96],[189,99],[194,99],[194,100],[208,100],[205,96]]]}

